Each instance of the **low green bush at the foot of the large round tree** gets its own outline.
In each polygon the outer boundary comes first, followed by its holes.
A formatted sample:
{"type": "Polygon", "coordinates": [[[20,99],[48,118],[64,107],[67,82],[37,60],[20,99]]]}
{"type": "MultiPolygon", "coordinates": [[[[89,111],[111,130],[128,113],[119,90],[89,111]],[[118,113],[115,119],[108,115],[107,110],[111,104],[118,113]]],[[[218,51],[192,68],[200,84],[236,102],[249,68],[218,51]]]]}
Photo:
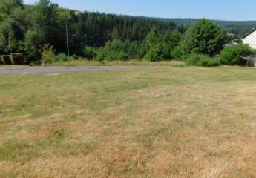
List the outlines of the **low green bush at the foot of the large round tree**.
{"type": "Polygon", "coordinates": [[[220,65],[220,60],[203,54],[191,54],[186,58],[186,65],[214,67],[220,65]]]}

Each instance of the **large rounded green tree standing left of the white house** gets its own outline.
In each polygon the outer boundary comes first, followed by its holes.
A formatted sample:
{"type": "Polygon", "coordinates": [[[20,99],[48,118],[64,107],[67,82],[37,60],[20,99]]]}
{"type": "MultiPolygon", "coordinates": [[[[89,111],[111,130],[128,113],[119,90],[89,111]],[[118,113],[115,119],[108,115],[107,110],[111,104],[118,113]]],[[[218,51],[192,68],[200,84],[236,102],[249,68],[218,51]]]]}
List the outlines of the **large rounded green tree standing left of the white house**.
{"type": "Polygon", "coordinates": [[[214,56],[226,43],[226,30],[215,22],[206,19],[192,24],[186,32],[182,44],[185,53],[202,53],[214,56]]]}

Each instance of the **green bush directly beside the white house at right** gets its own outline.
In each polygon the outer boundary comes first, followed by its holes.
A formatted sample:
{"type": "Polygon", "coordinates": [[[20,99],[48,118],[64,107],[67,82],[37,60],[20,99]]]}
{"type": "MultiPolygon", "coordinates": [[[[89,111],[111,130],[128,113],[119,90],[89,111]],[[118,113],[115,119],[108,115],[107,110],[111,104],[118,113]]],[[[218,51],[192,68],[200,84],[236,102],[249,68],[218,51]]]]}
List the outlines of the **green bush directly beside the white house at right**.
{"type": "Polygon", "coordinates": [[[240,56],[252,56],[254,53],[248,44],[225,47],[220,53],[220,62],[223,65],[246,65],[240,56]]]}

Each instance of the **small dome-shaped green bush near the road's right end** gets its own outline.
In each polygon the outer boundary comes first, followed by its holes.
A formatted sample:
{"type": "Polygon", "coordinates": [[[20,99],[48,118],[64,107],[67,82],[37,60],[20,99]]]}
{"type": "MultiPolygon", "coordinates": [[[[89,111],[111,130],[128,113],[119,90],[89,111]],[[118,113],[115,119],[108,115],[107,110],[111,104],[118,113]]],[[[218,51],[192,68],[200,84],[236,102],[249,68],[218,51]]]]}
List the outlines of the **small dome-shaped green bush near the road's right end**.
{"type": "Polygon", "coordinates": [[[160,49],[160,47],[152,47],[143,59],[150,62],[163,61],[165,59],[165,53],[160,49]]]}

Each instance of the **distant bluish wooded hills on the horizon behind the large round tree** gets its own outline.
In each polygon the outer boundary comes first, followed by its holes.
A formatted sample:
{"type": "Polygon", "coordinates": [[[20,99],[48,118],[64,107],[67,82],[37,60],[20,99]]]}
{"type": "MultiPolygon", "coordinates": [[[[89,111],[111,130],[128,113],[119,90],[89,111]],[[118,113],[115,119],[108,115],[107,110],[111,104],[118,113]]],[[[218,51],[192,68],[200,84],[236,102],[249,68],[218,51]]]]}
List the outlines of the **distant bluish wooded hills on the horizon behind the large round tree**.
{"type": "MultiPolygon", "coordinates": [[[[198,19],[165,19],[165,18],[154,18],[154,17],[144,17],[138,16],[137,18],[141,19],[155,19],[165,22],[174,22],[177,25],[190,25],[196,22],[198,19]]],[[[226,27],[230,33],[235,33],[237,36],[244,36],[246,33],[249,33],[256,28],[256,21],[223,21],[223,20],[213,20],[218,24],[226,27]]]]}

